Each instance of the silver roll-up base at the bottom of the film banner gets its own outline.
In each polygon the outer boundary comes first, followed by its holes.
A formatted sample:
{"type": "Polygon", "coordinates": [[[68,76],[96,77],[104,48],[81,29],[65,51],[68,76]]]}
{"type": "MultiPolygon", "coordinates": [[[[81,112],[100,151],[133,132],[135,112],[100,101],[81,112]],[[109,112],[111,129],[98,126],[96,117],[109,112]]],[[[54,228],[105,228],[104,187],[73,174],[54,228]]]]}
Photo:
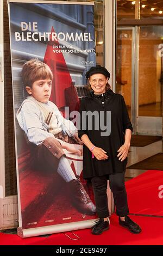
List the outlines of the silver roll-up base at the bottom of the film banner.
{"type": "Polygon", "coordinates": [[[61,232],[84,229],[84,228],[92,228],[93,225],[96,224],[95,223],[96,220],[98,219],[57,224],[57,225],[49,225],[46,227],[28,228],[28,229],[23,229],[22,227],[18,227],[17,235],[20,236],[21,238],[25,238],[30,236],[48,235],[48,234],[61,233],[61,232]]]}

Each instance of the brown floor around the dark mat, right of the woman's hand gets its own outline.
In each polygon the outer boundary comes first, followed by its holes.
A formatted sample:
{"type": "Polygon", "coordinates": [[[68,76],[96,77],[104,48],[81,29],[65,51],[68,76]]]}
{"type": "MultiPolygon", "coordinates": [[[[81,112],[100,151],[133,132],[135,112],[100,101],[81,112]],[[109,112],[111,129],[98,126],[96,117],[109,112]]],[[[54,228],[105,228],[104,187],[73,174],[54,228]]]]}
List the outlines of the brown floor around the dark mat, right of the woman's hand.
{"type": "MultiPolygon", "coordinates": [[[[130,152],[128,153],[127,167],[130,166],[131,164],[140,162],[146,159],[147,157],[163,152],[163,142],[162,141],[154,142],[145,147],[130,147],[129,151],[130,152]]],[[[147,170],[143,170],[143,169],[142,170],[126,169],[125,180],[126,181],[130,180],[146,171],[147,170]]]]}

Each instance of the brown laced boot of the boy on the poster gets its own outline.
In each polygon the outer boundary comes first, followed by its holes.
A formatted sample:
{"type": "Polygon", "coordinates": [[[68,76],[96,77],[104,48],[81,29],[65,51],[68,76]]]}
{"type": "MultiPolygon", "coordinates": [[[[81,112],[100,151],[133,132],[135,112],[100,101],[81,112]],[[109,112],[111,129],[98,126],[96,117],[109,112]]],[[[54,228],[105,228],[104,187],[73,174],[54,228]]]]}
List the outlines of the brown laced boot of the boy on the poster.
{"type": "Polygon", "coordinates": [[[86,193],[79,176],[77,180],[68,182],[70,196],[73,206],[82,214],[93,215],[96,213],[96,206],[92,203],[89,195],[86,193]]]}

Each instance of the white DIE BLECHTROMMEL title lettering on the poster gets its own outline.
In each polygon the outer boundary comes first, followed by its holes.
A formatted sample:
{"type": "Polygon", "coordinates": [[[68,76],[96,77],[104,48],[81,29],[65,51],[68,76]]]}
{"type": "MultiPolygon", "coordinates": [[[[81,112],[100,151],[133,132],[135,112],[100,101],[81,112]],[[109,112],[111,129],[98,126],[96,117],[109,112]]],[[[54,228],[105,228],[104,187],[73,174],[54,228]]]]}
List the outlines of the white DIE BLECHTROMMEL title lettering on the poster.
{"type": "Polygon", "coordinates": [[[15,32],[15,41],[93,41],[91,33],[38,32],[37,22],[21,22],[21,31],[15,32]]]}

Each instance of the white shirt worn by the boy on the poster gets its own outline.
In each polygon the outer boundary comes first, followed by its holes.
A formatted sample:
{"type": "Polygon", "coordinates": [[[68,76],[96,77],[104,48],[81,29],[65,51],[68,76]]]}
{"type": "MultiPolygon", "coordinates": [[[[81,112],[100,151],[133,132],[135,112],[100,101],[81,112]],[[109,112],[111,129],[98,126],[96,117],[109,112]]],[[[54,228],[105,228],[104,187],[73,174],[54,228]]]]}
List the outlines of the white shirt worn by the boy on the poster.
{"type": "MultiPolygon", "coordinates": [[[[53,113],[58,119],[61,130],[66,132],[68,136],[74,137],[78,130],[72,121],[62,117],[58,107],[52,101],[48,101],[47,105],[54,109],[53,113]]],[[[39,106],[34,101],[24,100],[16,113],[16,118],[21,129],[26,133],[29,142],[39,145],[47,137],[54,137],[52,133],[45,129],[39,106]]]]}

